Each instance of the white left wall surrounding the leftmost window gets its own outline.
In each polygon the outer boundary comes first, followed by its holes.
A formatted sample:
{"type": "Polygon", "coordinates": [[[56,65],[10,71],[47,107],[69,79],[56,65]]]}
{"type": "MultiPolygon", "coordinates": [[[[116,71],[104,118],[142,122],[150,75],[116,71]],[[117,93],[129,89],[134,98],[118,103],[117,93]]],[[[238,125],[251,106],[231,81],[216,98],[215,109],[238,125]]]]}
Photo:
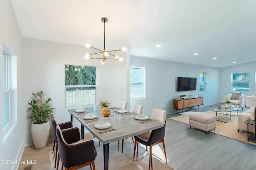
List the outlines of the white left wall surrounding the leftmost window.
{"type": "MultiPolygon", "coordinates": [[[[22,100],[21,96],[21,74],[22,74],[22,37],[18,23],[16,21],[12,4],[10,0],[1,0],[0,3],[0,89],[2,89],[2,47],[3,43],[17,55],[17,100],[22,100]]],[[[23,118],[21,114],[21,104],[18,102],[18,122],[16,123],[14,129],[3,143],[3,133],[0,131],[0,160],[18,160],[20,153],[22,154],[22,141],[23,134],[26,129],[24,129],[23,118]]],[[[0,93],[0,113],[2,113],[2,92],[0,93]]],[[[2,114],[0,116],[0,127],[2,128],[2,114]]],[[[17,164],[0,164],[0,169],[13,169],[17,167],[17,164]]]]}

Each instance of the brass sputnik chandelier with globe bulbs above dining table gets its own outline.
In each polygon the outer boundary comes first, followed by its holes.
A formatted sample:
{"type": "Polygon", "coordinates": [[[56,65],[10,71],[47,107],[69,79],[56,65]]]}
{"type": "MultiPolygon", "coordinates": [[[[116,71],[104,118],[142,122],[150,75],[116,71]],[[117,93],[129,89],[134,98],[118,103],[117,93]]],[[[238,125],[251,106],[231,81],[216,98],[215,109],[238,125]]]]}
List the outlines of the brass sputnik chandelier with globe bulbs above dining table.
{"type": "MultiPolygon", "coordinates": [[[[97,49],[97,48],[93,47],[93,46],[90,45],[90,44],[86,44],[85,47],[91,48],[91,49],[96,49],[96,50],[101,51],[101,52],[99,52],[99,53],[86,53],[84,59],[86,59],[86,60],[87,60],[87,59],[102,59],[102,58],[95,58],[95,57],[92,57],[92,55],[103,53],[103,60],[101,61],[101,63],[104,64],[105,61],[106,61],[106,59],[109,59],[109,58],[106,58],[106,57],[107,57],[108,55],[112,55],[112,54],[110,54],[110,53],[108,53],[108,52],[112,52],[112,51],[126,51],[126,48],[124,47],[124,48],[122,48],[122,49],[111,50],[111,51],[106,51],[106,50],[105,50],[105,23],[108,21],[108,19],[107,19],[107,18],[101,18],[101,21],[104,22],[104,50],[102,51],[102,50],[100,50],[100,49],[97,49]]],[[[113,56],[114,58],[109,59],[109,60],[123,61],[123,59],[122,59],[122,58],[118,58],[117,55],[112,55],[112,56],[113,56]]]]}

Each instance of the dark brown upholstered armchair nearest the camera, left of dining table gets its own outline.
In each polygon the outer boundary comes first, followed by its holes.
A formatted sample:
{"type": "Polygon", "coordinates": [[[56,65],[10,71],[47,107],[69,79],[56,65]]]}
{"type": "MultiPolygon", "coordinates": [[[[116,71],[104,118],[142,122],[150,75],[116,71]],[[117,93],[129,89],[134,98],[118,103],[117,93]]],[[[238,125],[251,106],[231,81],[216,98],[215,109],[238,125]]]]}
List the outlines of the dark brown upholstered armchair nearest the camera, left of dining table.
{"type": "MultiPolygon", "coordinates": [[[[94,142],[92,140],[80,140],[77,127],[61,130],[56,127],[56,136],[59,145],[58,162],[62,162],[65,170],[76,170],[91,165],[95,170],[94,160],[97,156],[94,142]]],[[[58,166],[57,166],[58,169],[58,166]]]]}

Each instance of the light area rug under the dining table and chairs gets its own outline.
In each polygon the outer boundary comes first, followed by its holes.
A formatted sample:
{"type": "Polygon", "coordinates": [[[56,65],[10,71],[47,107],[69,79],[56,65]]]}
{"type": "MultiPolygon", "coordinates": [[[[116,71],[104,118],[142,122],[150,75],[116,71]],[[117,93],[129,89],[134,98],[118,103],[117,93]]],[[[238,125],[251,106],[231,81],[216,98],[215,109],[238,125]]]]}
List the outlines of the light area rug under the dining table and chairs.
{"type": "MultiPolygon", "coordinates": [[[[103,145],[100,143],[100,146],[98,146],[98,140],[94,140],[94,145],[97,150],[97,157],[95,160],[95,169],[96,170],[103,170],[103,145]]],[[[133,161],[133,150],[134,150],[134,143],[132,143],[132,140],[126,139],[124,141],[124,152],[121,152],[122,144],[120,143],[120,150],[117,150],[117,142],[110,143],[109,145],[109,170],[148,170],[148,164],[149,164],[149,151],[146,151],[144,146],[140,145],[139,152],[138,152],[138,160],[136,161],[136,155],[135,160],[133,161]]],[[[148,148],[149,149],[149,148],[148,148]]],[[[156,156],[159,156],[162,160],[164,159],[164,154],[162,153],[162,150],[158,145],[155,145],[153,147],[153,153],[156,156]],[[160,151],[160,152],[159,152],[160,151]]],[[[49,159],[50,159],[50,165],[51,170],[56,170],[54,168],[54,159],[52,151],[49,152],[49,159]]],[[[152,156],[153,161],[153,168],[159,169],[159,170],[174,170],[172,166],[166,164],[159,158],[152,156]]],[[[59,165],[58,170],[61,170],[61,162],[59,165]]],[[[90,166],[85,166],[83,168],[80,168],[80,170],[90,170],[90,166]]]]}

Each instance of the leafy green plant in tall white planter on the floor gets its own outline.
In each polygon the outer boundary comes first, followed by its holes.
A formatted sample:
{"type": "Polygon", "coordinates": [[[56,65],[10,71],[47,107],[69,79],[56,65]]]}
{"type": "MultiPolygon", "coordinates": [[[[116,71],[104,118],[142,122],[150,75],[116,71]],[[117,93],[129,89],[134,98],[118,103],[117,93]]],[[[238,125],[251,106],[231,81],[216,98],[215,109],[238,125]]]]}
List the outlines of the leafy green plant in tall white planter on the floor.
{"type": "Polygon", "coordinates": [[[31,134],[34,146],[36,149],[46,147],[48,137],[50,133],[50,125],[48,120],[50,119],[50,113],[53,113],[53,109],[50,105],[51,98],[44,100],[45,93],[40,92],[32,93],[33,99],[30,103],[28,111],[30,111],[30,119],[33,121],[31,125],[31,134]]]}

